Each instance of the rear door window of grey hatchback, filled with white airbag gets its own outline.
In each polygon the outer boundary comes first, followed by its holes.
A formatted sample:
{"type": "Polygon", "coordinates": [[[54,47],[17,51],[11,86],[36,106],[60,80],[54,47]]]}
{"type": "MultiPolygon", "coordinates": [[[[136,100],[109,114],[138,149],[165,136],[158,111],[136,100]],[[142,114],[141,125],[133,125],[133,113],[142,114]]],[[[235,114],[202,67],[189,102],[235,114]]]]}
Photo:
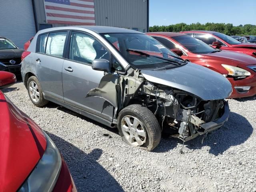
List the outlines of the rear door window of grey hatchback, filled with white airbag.
{"type": "Polygon", "coordinates": [[[50,33],[46,44],[46,54],[62,57],[67,32],[50,33]]]}

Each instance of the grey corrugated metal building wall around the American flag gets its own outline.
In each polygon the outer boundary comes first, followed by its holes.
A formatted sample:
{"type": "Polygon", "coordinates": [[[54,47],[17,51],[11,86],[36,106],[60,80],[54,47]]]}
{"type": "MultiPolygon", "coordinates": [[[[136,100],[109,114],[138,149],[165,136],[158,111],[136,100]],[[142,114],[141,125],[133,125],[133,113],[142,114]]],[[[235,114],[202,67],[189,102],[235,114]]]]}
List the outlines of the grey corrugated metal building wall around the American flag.
{"type": "MultiPolygon", "coordinates": [[[[34,4],[38,26],[46,24],[44,0],[34,0],[34,4]]],[[[94,9],[96,25],[148,31],[148,0],[94,0],[94,9]]]]}

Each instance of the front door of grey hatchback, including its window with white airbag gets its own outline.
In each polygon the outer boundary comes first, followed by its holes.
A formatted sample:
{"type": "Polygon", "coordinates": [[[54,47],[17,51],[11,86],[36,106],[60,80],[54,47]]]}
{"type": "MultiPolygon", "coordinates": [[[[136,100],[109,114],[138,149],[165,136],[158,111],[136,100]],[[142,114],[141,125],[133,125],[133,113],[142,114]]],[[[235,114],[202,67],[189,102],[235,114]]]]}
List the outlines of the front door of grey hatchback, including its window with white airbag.
{"type": "Polygon", "coordinates": [[[68,55],[62,69],[64,102],[112,121],[114,108],[108,101],[101,97],[86,97],[90,90],[99,86],[104,76],[103,71],[92,69],[92,61],[110,60],[110,52],[84,32],[73,31],[68,42],[68,55]]]}

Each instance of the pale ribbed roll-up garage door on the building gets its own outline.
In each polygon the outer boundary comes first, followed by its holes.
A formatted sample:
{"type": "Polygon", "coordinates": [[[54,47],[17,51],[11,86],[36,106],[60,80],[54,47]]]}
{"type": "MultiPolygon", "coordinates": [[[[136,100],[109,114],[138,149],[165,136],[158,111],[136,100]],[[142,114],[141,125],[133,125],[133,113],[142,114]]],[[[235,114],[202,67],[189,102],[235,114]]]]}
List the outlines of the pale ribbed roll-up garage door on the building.
{"type": "Polygon", "coordinates": [[[0,0],[0,36],[18,47],[36,34],[32,0],[0,0]]]}

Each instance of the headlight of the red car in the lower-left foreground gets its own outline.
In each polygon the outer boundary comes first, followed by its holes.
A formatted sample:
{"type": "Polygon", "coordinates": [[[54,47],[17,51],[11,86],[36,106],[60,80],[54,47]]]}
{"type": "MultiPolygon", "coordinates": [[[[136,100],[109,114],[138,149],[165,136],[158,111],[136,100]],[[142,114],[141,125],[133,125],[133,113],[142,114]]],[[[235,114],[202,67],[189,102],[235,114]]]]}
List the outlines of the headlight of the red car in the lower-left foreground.
{"type": "Polygon", "coordinates": [[[58,180],[61,169],[60,152],[50,137],[47,134],[44,135],[47,140],[44,155],[18,192],[51,192],[58,180]]]}

